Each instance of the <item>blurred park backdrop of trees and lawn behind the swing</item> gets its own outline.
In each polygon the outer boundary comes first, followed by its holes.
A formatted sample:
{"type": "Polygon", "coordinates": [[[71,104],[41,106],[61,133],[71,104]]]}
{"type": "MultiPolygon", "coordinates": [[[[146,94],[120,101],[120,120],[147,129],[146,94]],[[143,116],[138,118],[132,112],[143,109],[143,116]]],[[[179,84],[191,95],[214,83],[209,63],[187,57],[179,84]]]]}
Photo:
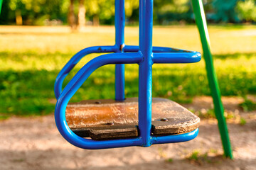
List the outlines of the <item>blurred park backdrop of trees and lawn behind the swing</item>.
{"type": "MultiPolygon", "coordinates": [[[[256,94],[256,1],[203,1],[215,67],[223,96],[244,98],[253,110],[256,94]]],[[[139,1],[126,0],[125,42],[138,45],[139,1]]],[[[76,52],[93,45],[114,45],[114,0],[4,0],[0,23],[0,113],[53,113],[53,84],[76,52]]],[[[191,1],[154,1],[153,44],[201,50],[191,1]]],[[[88,55],[70,73],[97,55],[88,55]]],[[[138,96],[138,67],[127,65],[127,97],[138,96]]],[[[191,103],[210,96],[204,62],[156,64],[153,95],[191,103]]],[[[64,85],[65,85],[64,84],[64,85]]],[[[72,101],[114,98],[114,66],[93,73],[72,101]]]]}

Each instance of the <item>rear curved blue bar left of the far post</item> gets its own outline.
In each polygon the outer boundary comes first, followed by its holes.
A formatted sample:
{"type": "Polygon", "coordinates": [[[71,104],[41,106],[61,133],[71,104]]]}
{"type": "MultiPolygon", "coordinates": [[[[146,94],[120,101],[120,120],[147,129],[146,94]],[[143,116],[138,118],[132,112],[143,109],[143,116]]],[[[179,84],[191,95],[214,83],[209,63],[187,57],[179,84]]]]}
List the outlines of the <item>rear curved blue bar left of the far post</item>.
{"type": "Polygon", "coordinates": [[[102,52],[116,52],[117,47],[116,46],[95,46],[95,47],[87,47],[83,50],[80,50],[77,54],[75,54],[67,64],[63,67],[63,69],[60,70],[60,73],[58,74],[55,84],[54,84],[54,93],[55,98],[58,98],[60,96],[60,93],[62,91],[62,85],[65,77],[67,77],[68,73],[75,67],[76,64],[82,59],[82,57],[85,57],[85,55],[89,55],[92,53],[102,53],[102,52]]]}

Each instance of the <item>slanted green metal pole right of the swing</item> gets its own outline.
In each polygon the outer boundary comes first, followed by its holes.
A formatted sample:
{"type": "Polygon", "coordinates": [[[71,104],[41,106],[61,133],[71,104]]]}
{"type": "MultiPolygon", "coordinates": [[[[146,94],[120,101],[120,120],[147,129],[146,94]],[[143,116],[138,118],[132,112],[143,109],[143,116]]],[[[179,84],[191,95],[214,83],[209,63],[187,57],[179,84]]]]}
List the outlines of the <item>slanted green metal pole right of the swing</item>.
{"type": "Polygon", "coordinates": [[[203,57],[206,62],[206,72],[210,85],[210,92],[213,97],[215,115],[218,119],[218,128],[220,130],[220,137],[223,144],[224,154],[225,157],[230,157],[230,159],[233,159],[230,139],[228,136],[228,127],[224,118],[223,103],[220,98],[218,79],[213,66],[213,57],[210,52],[210,38],[207,29],[206,16],[203,10],[203,2],[202,0],[192,0],[192,6],[193,12],[196,16],[196,25],[198,26],[203,47],[203,57]]]}

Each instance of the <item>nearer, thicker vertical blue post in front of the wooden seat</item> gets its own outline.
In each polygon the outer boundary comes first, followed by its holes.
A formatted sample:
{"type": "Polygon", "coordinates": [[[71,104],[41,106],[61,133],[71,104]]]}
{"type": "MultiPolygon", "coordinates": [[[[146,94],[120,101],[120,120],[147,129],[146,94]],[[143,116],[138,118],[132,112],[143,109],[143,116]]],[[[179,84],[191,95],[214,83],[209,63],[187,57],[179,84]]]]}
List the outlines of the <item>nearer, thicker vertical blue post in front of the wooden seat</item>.
{"type": "Polygon", "coordinates": [[[153,0],[139,0],[139,133],[142,146],[151,145],[153,0]]]}

